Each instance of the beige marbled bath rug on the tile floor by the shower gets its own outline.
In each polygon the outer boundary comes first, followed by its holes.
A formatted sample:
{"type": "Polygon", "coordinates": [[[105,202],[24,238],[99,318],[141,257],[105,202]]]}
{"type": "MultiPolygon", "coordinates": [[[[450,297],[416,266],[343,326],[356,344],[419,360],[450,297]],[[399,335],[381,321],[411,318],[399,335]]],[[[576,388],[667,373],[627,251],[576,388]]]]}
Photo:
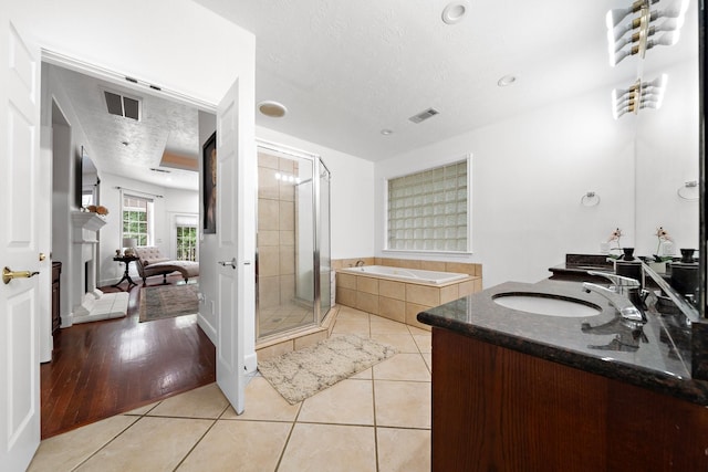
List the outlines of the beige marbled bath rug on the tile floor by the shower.
{"type": "Polygon", "coordinates": [[[396,349],[356,335],[336,335],[303,349],[258,363],[261,375],[290,405],[333,386],[396,354],[396,349]]]}

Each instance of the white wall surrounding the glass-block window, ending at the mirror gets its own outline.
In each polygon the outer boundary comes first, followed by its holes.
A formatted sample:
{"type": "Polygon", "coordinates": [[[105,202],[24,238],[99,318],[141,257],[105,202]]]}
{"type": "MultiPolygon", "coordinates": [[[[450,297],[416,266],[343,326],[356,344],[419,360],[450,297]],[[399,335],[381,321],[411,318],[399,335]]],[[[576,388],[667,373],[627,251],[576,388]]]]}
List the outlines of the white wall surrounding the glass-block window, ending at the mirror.
{"type": "MultiPolygon", "coordinates": [[[[423,123],[420,126],[425,126],[423,123]]],[[[376,165],[376,254],[478,262],[486,287],[537,282],[565,253],[597,253],[620,227],[634,240],[634,125],[615,122],[598,90],[376,165]],[[385,251],[385,179],[472,155],[472,253],[385,251]],[[624,177],[626,176],[626,178],[624,177]],[[581,198],[602,199],[586,208],[581,198]]]]}

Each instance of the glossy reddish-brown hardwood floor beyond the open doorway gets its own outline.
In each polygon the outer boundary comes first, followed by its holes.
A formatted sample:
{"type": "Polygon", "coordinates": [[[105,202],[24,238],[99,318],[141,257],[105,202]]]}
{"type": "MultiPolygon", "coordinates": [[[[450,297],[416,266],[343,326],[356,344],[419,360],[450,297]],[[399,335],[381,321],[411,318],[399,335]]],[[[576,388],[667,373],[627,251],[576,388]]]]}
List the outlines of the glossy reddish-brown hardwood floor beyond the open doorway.
{"type": "Polygon", "coordinates": [[[197,316],[138,323],[140,286],[131,290],[126,317],[55,337],[54,358],[40,368],[42,439],[216,380],[215,347],[197,316]]]}

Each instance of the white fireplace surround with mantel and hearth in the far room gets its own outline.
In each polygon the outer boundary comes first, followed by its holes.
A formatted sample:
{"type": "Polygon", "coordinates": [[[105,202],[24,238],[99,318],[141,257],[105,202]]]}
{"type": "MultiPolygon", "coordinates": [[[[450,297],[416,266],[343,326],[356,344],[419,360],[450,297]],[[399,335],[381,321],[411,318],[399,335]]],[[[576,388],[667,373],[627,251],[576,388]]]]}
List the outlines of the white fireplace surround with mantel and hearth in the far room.
{"type": "Polygon", "coordinates": [[[71,300],[75,303],[69,319],[62,319],[62,327],[76,323],[117,318],[127,314],[128,294],[103,293],[96,287],[96,248],[98,231],[106,224],[103,217],[87,211],[73,211],[72,242],[74,274],[81,276],[70,281],[71,300]]]}

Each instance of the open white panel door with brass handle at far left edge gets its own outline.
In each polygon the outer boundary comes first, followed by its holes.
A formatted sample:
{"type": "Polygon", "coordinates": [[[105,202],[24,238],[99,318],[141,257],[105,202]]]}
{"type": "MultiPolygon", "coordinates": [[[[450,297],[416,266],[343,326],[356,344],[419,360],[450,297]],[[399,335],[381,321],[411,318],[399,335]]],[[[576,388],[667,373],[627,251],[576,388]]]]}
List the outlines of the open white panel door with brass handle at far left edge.
{"type": "MultiPolygon", "coordinates": [[[[7,18],[1,23],[0,269],[29,275],[49,264],[40,263],[46,249],[38,243],[38,195],[45,191],[39,188],[39,50],[7,18]]],[[[8,471],[25,470],[40,442],[38,280],[0,282],[0,464],[8,471]]]]}

